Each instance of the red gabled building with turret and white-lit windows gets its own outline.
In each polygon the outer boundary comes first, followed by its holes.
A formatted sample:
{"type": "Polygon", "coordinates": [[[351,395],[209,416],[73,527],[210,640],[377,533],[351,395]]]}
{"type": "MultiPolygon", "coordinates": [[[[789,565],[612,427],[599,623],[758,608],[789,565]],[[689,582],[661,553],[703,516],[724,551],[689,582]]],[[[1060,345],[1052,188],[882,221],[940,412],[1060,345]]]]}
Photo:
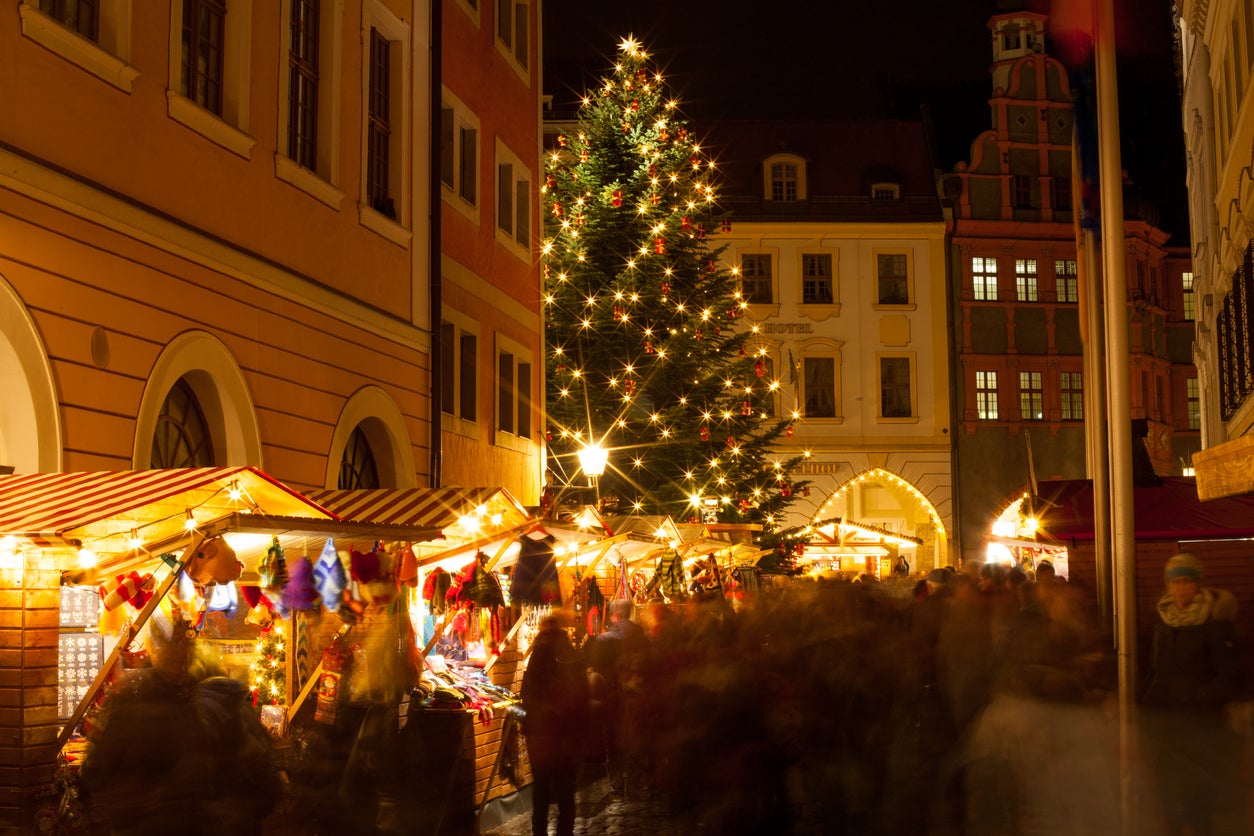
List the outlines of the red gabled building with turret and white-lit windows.
{"type": "MultiPolygon", "coordinates": [[[[1082,479],[1085,340],[1072,218],[1072,90],[1047,51],[1046,16],[994,15],[991,128],[942,178],[951,212],[956,470],[963,553],[981,556],[989,521],[1033,478],[1082,479]]],[[[1189,351],[1189,252],[1125,178],[1131,415],[1147,426],[1159,474],[1198,447],[1189,351]]]]}

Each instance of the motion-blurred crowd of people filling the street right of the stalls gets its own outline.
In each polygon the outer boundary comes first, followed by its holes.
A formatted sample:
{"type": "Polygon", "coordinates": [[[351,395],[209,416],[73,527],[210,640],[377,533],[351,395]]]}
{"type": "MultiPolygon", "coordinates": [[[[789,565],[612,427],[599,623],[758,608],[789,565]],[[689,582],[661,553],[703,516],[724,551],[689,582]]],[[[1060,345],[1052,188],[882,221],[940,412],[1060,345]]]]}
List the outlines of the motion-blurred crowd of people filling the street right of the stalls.
{"type": "MultiPolygon", "coordinates": [[[[578,741],[568,766],[665,805],[676,832],[1119,832],[1127,775],[1134,832],[1250,832],[1246,741],[1225,722],[1244,696],[1235,602],[1193,555],[1165,580],[1132,755],[1095,595],[1048,563],[791,580],[736,608],[614,602],[606,634],[562,645],[588,702],[524,731],[533,758],[545,733],[578,741]]],[[[532,681],[551,676],[538,649],[532,681]]]]}

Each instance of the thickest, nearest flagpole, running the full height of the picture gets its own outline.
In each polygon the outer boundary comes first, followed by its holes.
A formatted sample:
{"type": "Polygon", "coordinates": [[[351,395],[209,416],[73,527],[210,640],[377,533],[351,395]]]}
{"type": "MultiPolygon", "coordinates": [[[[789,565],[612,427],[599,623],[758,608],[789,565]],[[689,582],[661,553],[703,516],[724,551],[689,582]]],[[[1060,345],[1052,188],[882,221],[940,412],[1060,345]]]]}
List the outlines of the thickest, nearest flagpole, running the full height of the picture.
{"type": "Polygon", "coordinates": [[[1134,832],[1136,692],[1136,533],[1132,509],[1131,375],[1127,350],[1127,278],[1124,266],[1124,177],[1119,153],[1114,0],[1097,0],[1097,142],[1106,290],[1106,381],[1110,415],[1110,519],[1115,569],[1115,652],[1119,663],[1120,801],[1122,832],[1134,832]]]}

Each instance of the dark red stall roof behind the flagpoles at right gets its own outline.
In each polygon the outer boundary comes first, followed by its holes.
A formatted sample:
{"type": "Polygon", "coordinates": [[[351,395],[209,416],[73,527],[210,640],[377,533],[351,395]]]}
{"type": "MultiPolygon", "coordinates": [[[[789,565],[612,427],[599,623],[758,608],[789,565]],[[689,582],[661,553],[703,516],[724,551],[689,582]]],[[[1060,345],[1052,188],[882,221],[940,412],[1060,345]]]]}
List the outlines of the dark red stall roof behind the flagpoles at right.
{"type": "MultiPolygon", "coordinates": [[[[1206,540],[1254,536],[1254,496],[1201,501],[1196,481],[1164,476],[1161,485],[1132,489],[1139,540],[1206,540]]],[[[1093,491],[1087,479],[1042,481],[1041,528],[1058,540],[1093,539],[1093,491]]]]}

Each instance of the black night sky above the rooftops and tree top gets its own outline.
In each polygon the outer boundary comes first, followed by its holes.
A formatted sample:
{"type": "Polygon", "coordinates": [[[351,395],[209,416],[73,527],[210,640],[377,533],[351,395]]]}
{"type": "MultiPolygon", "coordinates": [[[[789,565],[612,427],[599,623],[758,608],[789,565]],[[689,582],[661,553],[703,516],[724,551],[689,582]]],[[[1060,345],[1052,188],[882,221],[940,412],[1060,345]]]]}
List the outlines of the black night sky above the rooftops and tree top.
{"type": "MultiPolygon", "coordinates": [[[[1004,0],[1003,0],[1004,1],[1004,0]]],[[[1048,11],[1051,0],[1030,0],[1048,11]]],[[[1062,1],[1062,0],[1053,0],[1062,1]]],[[[662,65],[688,119],[919,118],[940,164],[969,158],[989,128],[988,18],[998,0],[804,4],[544,0],[545,93],[558,108],[636,35],[662,65]]],[[[1180,97],[1167,0],[1116,0],[1124,168],[1159,206],[1171,243],[1188,241],[1180,97]]]]}

